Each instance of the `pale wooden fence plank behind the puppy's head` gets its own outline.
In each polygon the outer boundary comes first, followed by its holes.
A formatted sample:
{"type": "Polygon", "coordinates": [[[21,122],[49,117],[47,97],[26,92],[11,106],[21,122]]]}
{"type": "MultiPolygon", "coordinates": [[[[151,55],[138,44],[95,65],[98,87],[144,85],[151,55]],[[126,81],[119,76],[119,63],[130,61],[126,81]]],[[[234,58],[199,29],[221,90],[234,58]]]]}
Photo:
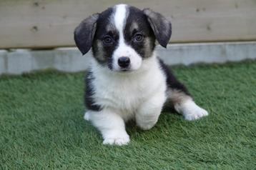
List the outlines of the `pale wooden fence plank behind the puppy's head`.
{"type": "MultiPolygon", "coordinates": [[[[0,49],[74,46],[82,19],[119,1],[2,0],[0,49]]],[[[172,42],[256,40],[255,0],[124,1],[149,7],[172,21],[172,42]]]]}

